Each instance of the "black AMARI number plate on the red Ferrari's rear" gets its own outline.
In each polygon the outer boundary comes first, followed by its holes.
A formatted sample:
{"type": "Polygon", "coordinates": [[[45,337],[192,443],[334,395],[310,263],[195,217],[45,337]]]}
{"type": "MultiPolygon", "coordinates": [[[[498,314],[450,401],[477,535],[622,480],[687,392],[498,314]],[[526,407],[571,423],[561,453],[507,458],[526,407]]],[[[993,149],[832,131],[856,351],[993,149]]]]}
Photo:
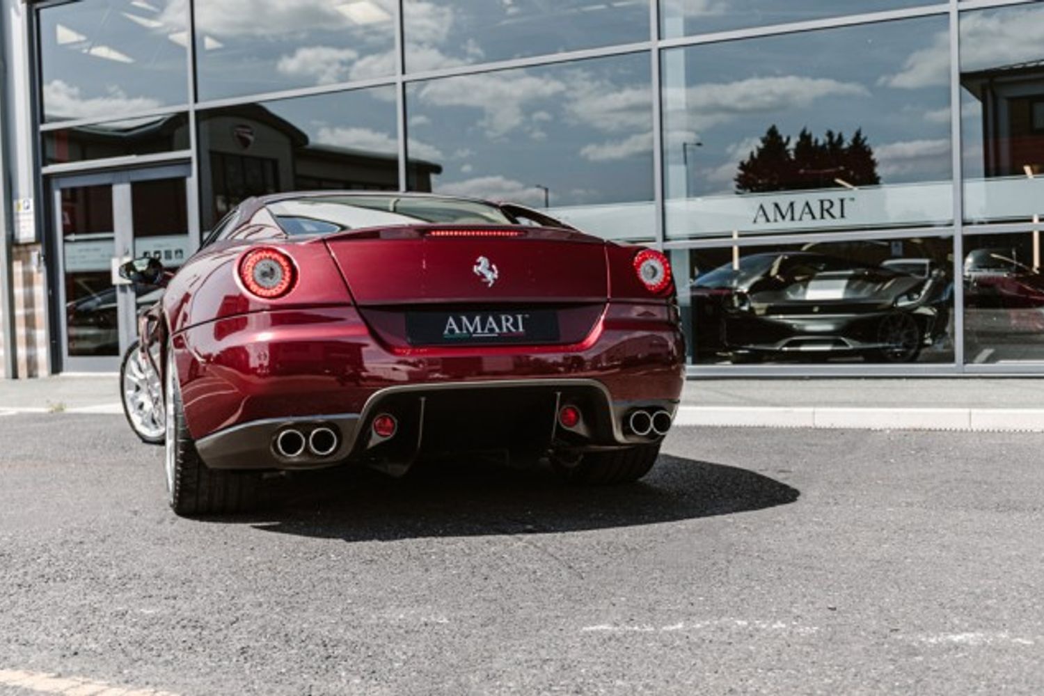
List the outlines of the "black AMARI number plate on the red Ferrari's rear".
{"type": "Polygon", "coordinates": [[[559,314],[554,310],[407,312],[406,338],[412,345],[553,343],[559,340],[559,314]]]}

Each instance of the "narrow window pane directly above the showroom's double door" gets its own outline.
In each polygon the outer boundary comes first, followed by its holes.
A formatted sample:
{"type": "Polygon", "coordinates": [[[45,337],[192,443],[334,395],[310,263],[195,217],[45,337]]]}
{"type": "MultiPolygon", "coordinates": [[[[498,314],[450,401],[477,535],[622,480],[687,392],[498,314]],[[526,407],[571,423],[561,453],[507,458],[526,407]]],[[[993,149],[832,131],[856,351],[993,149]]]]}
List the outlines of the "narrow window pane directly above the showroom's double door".
{"type": "Polygon", "coordinates": [[[45,164],[65,164],[189,148],[185,114],[94,123],[44,133],[45,164]]]}

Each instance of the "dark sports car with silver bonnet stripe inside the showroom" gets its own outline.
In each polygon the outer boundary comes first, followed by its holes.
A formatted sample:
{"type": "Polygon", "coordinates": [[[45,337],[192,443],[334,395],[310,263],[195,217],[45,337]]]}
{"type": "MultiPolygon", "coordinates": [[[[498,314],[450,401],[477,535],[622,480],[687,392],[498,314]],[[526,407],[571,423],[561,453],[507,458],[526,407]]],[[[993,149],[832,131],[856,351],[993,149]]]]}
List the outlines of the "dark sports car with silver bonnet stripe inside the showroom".
{"type": "Polygon", "coordinates": [[[951,284],[928,259],[865,264],[815,251],[754,254],[691,284],[697,356],[858,356],[911,362],[947,330],[951,284]]]}

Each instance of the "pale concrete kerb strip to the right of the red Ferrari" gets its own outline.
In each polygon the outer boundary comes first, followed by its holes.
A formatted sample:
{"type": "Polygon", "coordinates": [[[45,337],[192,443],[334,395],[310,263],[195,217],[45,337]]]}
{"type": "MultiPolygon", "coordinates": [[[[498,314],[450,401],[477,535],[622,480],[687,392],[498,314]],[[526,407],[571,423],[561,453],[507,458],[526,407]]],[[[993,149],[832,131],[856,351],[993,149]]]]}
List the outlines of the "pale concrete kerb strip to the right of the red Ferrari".
{"type": "Polygon", "coordinates": [[[677,426],[1044,432],[1044,409],[681,406],[677,426]]]}

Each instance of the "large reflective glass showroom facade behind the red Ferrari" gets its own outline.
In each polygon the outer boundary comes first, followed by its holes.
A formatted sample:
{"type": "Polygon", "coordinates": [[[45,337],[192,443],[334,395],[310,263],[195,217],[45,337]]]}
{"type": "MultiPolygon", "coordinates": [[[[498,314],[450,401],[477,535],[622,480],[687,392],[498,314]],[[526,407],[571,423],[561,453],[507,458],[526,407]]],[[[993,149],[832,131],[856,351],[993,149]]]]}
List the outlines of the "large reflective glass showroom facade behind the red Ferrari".
{"type": "Polygon", "coordinates": [[[982,4],[44,4],[40,161],[192,163],[143,238],[303,189],[546,209],[669,253],[697,374],[1039,371],[1044,2],[982,4]]]}

